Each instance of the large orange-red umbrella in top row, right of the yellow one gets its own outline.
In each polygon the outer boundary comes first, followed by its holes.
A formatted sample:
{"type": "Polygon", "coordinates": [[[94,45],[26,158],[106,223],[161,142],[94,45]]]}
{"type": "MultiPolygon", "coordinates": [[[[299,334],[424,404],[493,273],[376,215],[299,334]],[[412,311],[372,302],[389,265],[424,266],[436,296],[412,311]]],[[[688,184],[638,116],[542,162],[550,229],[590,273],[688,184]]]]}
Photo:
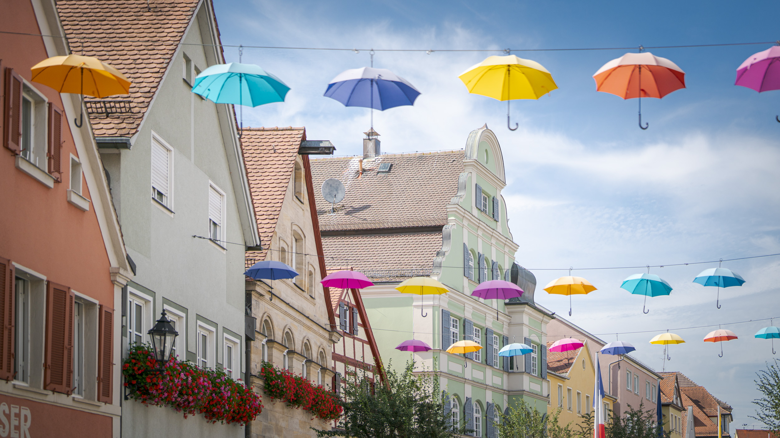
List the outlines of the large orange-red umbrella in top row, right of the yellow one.
{"type": "MultiPolygon", "coordinates": [[[[640,48],[640,50],[642,50],[640,48]]],[[[623,99],[639,98],[639,127],[642,126],[642,97],[660,99],[674,90],[685,88],[685,72],[667,58],[649,51],[626,53],[598,69],[593,79],[596,90],[623,99]],[[644,74],[643,74],[644,73],[644,74]]]]}

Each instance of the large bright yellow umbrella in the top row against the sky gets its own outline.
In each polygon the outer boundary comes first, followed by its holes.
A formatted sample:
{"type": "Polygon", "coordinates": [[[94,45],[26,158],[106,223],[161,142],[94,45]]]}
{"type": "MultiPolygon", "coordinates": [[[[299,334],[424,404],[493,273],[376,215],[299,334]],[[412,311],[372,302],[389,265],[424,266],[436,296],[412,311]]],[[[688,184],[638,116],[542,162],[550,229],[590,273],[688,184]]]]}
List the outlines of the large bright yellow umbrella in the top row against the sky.
{"type": "Polygon", "coordinates": [[[515,55],[488,56],[458,76],[471,94],[481,94],[506,102],[506,127],[509,127],[509,101],[538,99],[558,88],[552,75],[540,63],[515,55]]]}

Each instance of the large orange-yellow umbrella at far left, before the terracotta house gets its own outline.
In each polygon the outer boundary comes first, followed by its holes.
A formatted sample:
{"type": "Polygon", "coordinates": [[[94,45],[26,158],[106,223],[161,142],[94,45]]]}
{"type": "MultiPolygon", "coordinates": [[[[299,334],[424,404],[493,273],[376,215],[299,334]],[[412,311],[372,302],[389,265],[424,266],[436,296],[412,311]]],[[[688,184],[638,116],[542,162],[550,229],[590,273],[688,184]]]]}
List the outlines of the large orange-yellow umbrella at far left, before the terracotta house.
{"type": "MultiPolygon", "coordinates": [[[[130,79],[97,58],[81,55],[52,56],[33,65],[33,82],[42,83],[60,93],[93,97],[128,94],[130,79]]],[[[81,122],[76,126],[81,127],[81,122]]]]}

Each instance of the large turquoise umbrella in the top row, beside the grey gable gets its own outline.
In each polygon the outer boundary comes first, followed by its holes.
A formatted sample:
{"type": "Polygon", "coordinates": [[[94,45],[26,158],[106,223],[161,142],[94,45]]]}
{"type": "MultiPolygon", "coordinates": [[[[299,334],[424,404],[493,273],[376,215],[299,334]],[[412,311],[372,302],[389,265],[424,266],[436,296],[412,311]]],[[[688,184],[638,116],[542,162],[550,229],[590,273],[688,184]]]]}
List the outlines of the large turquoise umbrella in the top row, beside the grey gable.
{"type": "MultiPolygon", "coordinates": [[[[282,79],[254,64],[211,65],[195,77],[193,93],[217,104],[257,107],[271,102],[283,102],[290,90],[282,79]]],[[[243,110],[241,111],[243,129],[243,110]]],[[[240,136],[240,132],[239,132],[240,136]]]]}

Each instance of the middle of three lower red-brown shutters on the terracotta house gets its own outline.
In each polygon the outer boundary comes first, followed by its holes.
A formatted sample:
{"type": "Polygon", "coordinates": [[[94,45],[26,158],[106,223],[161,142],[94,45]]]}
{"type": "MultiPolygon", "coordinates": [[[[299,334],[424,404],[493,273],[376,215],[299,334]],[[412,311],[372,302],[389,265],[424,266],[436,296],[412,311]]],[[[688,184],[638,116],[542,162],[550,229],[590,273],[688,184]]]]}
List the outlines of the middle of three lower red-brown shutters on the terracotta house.
{"type": "Polygon", "coordinates": [[[48,281],[44,390],[73,390],[73,302],[70,288],[48,281]]]}

